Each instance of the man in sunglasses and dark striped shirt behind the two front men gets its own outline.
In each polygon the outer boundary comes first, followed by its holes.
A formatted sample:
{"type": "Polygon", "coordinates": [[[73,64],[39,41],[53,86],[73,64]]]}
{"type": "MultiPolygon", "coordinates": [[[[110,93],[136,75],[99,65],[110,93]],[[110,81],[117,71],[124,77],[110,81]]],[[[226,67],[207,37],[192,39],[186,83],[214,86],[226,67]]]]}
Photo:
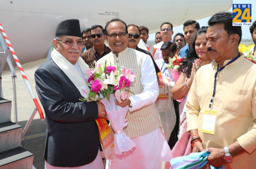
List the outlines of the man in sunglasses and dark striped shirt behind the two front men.
{"type": "Polygon", "coordinates": [[[85,63],[91,66],[94,61],[99,60],[106,54],[111,52],[111,49],[104,44],[105,36],[104,29],[100,25],[93,25],[91,27],[91,38],[93,47],[82,54],[82,59],[85,63]]]}

